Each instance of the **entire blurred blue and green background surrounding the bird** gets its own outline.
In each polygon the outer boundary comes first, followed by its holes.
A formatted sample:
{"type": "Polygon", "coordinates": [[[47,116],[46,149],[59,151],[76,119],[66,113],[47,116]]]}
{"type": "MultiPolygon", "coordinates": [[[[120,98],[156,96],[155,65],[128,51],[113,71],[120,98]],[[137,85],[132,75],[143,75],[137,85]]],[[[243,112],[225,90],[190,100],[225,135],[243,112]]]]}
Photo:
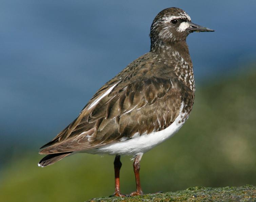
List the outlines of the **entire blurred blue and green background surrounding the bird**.
{"type": "MultiPolygon", "coordinates": [[[[38,148],[105,82],[150,49],[154,17],[180,7],[215,29],[188,39],[191,116],[141,161],[144,193],[256,184],[256,1],[0,1],[0,196],[84,201],[114,193],[113,156],[77,154],[37,166],[38,148]]],[[[122,157],[121,191],[135,190],[122,157]]]]}

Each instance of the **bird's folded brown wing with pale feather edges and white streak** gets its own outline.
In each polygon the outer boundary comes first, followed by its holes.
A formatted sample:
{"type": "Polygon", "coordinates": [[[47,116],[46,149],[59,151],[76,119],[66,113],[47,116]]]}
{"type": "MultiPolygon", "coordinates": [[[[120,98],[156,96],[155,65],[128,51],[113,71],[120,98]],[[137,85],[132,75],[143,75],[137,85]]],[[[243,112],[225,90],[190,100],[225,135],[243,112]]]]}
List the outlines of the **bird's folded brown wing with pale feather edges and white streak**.
{"type": "Polygon", "coordinates": [[[44,145],[40,154],[98,148],[168,127],[178,116],[183,99],[173,82],[155,77],[136,79],[126,86],[122,81],[110,82],[95,94],[77,119],[44,145]],[[111,92],[102,97],[113,85],[111,92]],[[95,100],[97,103],[91,107],[95,100]]]}

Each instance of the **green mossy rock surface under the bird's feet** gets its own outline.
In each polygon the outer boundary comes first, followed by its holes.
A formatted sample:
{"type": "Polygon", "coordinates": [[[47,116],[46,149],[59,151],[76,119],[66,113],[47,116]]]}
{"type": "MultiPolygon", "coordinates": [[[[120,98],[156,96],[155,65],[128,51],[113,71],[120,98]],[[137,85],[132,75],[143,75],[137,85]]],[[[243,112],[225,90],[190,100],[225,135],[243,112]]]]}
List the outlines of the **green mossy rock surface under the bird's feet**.
{"type": "Polygon", "coordinates": [[[162,194],[145,194],[143,196],[124,198],[102,197],[89,201],[256,201],[256,187],[253,185],[221,188],[200,186],[162,194]]]}

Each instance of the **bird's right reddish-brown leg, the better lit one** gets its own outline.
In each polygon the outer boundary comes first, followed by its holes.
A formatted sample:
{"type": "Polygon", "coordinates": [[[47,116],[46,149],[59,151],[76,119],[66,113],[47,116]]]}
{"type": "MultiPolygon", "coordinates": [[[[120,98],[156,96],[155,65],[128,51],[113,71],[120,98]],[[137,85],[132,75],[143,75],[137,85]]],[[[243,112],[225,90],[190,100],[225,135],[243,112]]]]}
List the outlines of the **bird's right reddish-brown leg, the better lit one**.
{"type": "Polygon", "coordinates": [[[143,191],[141,189],[140,185],[140,160],[141,160],[142,154],[136,155],[134,162],[133,162],[133,170],[135,174],[135,181],[136,181],[136,191],[130,194],[130,196],[138,196],[142,195],[143,191]]]}

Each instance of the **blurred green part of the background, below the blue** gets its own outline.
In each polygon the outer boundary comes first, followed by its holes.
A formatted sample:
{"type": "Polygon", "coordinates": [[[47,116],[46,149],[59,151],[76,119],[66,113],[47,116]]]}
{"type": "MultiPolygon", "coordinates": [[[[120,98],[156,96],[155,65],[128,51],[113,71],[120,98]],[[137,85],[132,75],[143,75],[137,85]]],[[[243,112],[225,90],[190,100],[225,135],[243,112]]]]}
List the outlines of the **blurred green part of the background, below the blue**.
{"type": "MultiPolygon", "coordinates": [[[[144,154],[145,193],[192,186],[256,184],[256,71],[246,69],[197,88],[194,108],[178,134],[144,154]]],[[[20,151],[22,153],[22,151],[20,151]]],[[[84,201],[114,192],[113,156],[76,154],[41,168],[37,151],[1,170],[2,201],[84,201]]],[[[130,157],[121,157],[121,192],[135,190],[130,157]]]]}

